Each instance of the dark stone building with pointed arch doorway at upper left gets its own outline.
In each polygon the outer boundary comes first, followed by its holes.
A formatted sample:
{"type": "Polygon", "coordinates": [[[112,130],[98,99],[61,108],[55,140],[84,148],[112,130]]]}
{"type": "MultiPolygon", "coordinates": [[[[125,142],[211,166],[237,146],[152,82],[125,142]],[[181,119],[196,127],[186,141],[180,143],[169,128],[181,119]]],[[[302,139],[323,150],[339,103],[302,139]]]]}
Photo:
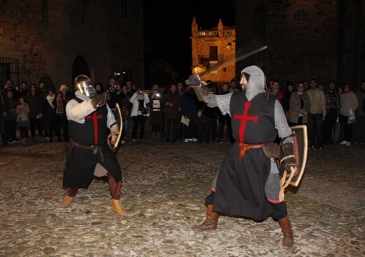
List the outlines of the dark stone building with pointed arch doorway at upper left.
{"type": "Polygon", "coordinates": [[[144,83],[142,0],[12,0],[0,8],[0,88],[38,83],[56,89],[87,74],[105,85],[114,72],[144,83]],[[18,81],[19,77],[19,81],[18,81]]]}

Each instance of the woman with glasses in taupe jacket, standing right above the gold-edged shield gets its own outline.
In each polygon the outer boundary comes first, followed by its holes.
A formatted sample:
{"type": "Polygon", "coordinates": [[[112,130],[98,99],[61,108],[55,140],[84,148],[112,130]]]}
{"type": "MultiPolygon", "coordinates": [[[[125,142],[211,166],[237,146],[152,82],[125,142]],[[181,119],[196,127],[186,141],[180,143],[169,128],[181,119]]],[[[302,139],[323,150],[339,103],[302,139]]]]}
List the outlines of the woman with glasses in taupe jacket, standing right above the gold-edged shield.
{"type": "Polygon", "coordinates": [[[312,105],[308,94],[304,92],[303,82],[299,82],[297,91],[290,95],[289,106],[288,125],[290,127],[308,123],[308,111],[312,105]]]}

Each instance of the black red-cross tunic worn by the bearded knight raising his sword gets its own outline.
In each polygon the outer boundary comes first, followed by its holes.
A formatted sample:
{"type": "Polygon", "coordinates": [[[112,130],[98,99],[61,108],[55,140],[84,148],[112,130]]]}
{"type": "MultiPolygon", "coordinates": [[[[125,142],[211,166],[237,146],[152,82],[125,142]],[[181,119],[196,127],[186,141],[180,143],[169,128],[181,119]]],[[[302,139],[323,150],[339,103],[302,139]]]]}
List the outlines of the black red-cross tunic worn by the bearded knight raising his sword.
{"type": "MultiPolygon", "coordinates": [[[[275,96],[266,92],[251,101],[244,92],[233,93],[230,115],[234,139],[251,145],[273,142],[277,135],[275,100],[275,96]]],[[[248,149],[241,162],[238,162],[239,155],[239,146],[233,144],[219,169],[216,188],[212,188],[215,191],[213,211],[263,219],[273,212],[265,196],[270,158],[265,156],[262,147],[248,149]]]]}

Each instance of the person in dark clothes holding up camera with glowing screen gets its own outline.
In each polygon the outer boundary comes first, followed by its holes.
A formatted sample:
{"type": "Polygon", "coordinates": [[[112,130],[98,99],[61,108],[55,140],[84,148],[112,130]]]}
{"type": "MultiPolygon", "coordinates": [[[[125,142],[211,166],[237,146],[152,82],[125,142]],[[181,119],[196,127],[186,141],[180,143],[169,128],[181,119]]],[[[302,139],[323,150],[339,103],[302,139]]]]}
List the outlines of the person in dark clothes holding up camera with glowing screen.
{"type": "Polygon", "coordinates": [[[149,106],[151,111],[150,123],[152,124],[153,141],[160,141],[162,110],[164,110],[165,104],[161,99],[161,93],[158,92],[158,89],[152,89],[149,106]]]}

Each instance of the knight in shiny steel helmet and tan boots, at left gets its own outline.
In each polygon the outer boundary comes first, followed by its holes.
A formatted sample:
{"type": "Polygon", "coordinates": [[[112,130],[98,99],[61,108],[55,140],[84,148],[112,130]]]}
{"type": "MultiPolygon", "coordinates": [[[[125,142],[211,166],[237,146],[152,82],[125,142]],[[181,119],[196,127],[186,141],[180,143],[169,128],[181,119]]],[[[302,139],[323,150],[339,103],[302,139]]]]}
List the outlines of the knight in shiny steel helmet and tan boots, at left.
{"type": "Polygon", "coordinates": [[[112,210],[127,215],[120,203],[122,172],[116,157],[108,146],[108,130],[111,138],[118,134],[118,126],[107,101],[108,92],[96,95],[93,82],[85,75],[74,81],[74,99],[66,106],[70,142],[66,147],[66,166],[62,187],[66,197],[60,207],[69,206],[79,187],[87,188],[94,174],[108,176],[112,196],[112,210]]]}

